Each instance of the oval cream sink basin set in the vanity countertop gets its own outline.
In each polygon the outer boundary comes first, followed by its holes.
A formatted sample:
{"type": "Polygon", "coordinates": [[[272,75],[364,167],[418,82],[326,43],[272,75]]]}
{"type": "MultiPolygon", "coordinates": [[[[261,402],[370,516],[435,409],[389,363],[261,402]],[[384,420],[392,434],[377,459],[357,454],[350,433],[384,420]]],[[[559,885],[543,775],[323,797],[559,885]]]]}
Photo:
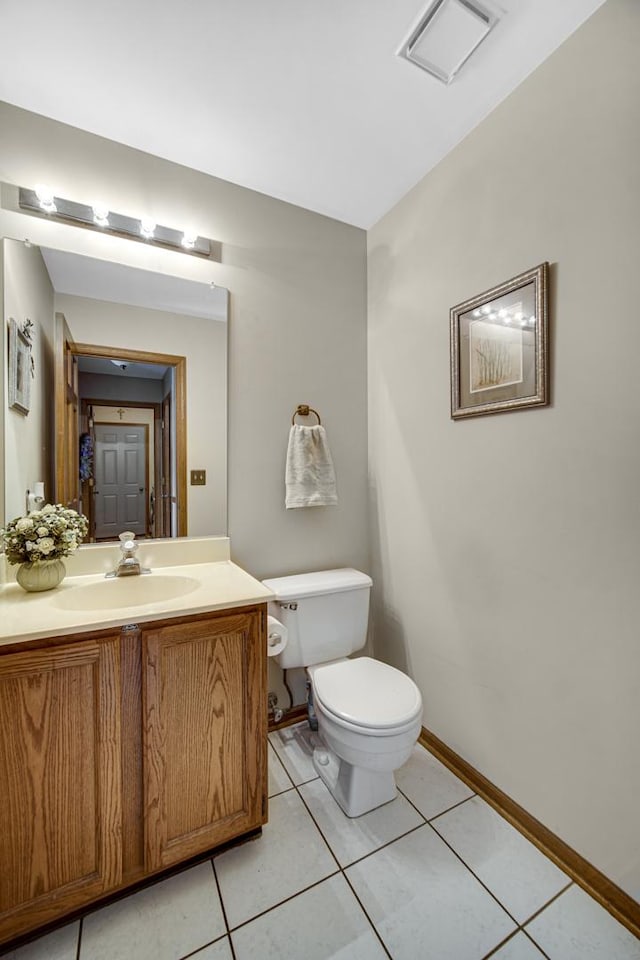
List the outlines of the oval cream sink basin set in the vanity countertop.
{"type": "Polygon", "coordinates": [[[193,593],[200,581],[161,573],[114,577],[87,583],[83,586],[67,584],[59,589],[55,599],[61,610],[117,610],[120,607],[139,607],[147,603],[175,600],[193,593]]]}

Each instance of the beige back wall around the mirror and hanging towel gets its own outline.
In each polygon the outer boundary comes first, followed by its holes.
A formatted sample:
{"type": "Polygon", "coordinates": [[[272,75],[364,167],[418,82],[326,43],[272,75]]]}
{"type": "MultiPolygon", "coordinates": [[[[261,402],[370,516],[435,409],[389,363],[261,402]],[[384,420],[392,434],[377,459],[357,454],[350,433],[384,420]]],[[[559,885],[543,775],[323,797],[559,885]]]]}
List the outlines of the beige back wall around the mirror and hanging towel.
{"type": "MultiPolygon", "coordinates": [[[[366,568],[366,236],[363,231],[186,167],[0,104],[0,178],[194,226],[221,264],[0,210],[0,234],[215,280],[229,299],[229,534],[258,577],[366,568]],[[284,508],[284,459],[298,403],[320,411],[337,507],[284,508]]],[[[257,146],[256,149],[259,149],[257,146]]],[[[154,346],[163,349],[160,338],[154,346]]]]}

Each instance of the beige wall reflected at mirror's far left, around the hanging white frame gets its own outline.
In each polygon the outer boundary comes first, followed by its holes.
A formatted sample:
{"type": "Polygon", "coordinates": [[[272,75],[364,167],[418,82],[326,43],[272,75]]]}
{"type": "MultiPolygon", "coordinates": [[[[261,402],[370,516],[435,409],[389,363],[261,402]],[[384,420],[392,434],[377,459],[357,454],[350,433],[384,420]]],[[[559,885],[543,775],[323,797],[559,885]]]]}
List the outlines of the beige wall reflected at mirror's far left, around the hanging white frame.
{"type": "Polygon", "coordinates": [[[33,321],[35,376],[31,379],[29,413],[3,402],[4,438],[7,457],[6,489],[0,497],[0,512],[6,506],[7,520],[26,510],[26,491],[43,481],[45,496],[52,496],[51,437],[53,426],[53,288],[40,251],[23,243],[5,241],[4,261],[4,335],[0,345],[3,369],[7,369],[9,318],[20,327],[28,317],[33,321]]]}

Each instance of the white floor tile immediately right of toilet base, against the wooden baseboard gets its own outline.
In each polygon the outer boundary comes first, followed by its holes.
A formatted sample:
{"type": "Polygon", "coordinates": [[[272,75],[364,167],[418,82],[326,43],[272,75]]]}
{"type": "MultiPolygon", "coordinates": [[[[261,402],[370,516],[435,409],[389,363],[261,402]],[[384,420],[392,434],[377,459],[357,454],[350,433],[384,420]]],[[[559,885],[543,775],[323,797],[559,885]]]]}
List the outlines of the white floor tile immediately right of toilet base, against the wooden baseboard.
{"type": "Polygon", "coordinates": [[[473,796],[473,790],[420,744],[396,771],[396,783],[427,820],[473,796]]]}

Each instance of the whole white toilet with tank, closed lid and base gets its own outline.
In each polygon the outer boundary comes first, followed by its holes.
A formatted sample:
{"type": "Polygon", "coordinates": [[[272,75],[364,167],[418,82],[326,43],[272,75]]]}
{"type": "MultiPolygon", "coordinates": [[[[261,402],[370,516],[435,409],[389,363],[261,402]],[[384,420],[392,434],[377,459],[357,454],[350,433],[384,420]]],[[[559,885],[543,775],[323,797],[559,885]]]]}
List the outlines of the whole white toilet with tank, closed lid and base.
{"type": "Polygon", "coordinates": [[[287,628],[276,660],[284,670],[305,667],[311,683],[318,775],[348,817],[388,803],[420,734],[422,698],[395,667],[348,659],[367,639],[371,578],[347,568],[263,582],[275,595],[270,615],[287,628]]]}

